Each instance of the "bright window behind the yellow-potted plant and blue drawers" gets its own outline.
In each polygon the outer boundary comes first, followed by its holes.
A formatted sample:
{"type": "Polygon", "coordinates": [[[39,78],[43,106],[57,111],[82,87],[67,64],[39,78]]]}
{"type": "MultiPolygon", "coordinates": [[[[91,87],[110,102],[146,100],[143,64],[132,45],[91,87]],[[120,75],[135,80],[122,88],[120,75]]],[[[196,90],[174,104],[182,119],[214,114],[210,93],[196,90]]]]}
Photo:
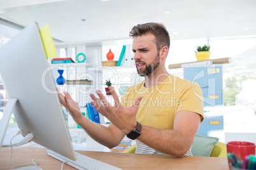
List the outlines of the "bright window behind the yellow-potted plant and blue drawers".
{"type": "MultiPolygon", "coordinates": [[[[256,128],[256,36],[217,37],[208,39],[210,59],[231,57],[223,64],[224,131],[251,132],[256,128]]],[[[207,39],[173,40],[166,60],[171,63],[195,62],[196,46],[207,39]]],[[[167,69],[183,77],[183,69],[167,69]]]]}

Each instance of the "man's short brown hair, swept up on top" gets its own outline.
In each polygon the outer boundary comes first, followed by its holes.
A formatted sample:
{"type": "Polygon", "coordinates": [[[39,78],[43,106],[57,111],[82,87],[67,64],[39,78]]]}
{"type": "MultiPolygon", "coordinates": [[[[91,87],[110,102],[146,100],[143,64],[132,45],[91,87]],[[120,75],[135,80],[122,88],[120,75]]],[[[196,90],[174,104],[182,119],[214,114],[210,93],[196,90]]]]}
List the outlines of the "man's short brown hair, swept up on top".
{"type": "Polygon", "coordinates": [[[160,50],[162,47],[170,47],[170,37],[166,30],[166,27],[162,23],[143,23],[134,26],[129,34],[130,37],[143,36],[145,34],[151,33],[155,36],[155,44],[157,49],[160,50]]]}

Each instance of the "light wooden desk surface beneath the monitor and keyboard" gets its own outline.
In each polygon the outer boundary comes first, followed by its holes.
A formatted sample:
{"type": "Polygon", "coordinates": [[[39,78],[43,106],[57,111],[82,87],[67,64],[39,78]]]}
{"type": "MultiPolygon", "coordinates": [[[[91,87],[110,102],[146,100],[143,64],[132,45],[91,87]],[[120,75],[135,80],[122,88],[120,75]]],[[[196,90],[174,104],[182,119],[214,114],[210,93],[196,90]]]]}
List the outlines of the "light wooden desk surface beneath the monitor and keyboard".
{"type": "MultiPolygon", "coordinates": [[[[25,164],[36,159],[43,169],[60,169],[62,162],[46,153],[46,148],[14,147],[13,162],[25,164]]],[[[122,169],[229,169],[226,158],[218,157],[183,157],[171,155],[123,154],[111,152],[76,152],[101,160],[122,169]]],[[[0,169],[15,169],[10,163],[11,148],[1,148],[0,169]]],[[[32,164],[29,164],[32,166],[32,164]]],[[[63,169],[75,169],[67,164],[63,169]]]]}

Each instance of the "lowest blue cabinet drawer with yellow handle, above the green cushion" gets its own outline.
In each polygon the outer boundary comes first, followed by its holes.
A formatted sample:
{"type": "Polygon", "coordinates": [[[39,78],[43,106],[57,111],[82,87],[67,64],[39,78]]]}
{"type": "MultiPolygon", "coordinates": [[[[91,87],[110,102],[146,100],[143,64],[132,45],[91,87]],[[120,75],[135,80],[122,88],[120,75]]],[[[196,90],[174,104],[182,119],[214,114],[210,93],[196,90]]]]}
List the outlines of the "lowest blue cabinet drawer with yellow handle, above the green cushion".
{"type": "Polygon", "coordinates": [[[197,132],[199,135],[208,136],[210,131],[223,130],[223,119],[211,119],[206,118],[200,124],[200,128],[197,132]]]}

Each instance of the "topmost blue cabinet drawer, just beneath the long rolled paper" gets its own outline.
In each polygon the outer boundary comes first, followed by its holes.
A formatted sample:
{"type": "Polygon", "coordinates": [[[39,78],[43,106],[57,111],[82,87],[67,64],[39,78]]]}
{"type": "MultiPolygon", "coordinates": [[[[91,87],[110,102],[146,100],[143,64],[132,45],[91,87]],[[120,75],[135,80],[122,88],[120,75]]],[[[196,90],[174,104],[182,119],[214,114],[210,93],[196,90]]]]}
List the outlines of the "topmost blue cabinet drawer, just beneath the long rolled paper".
{"type": "Polygon", "coordinates": [[[197,82],[203,92],[222,92],[222,67],[185,68],[184,79],[197,82]]]}

